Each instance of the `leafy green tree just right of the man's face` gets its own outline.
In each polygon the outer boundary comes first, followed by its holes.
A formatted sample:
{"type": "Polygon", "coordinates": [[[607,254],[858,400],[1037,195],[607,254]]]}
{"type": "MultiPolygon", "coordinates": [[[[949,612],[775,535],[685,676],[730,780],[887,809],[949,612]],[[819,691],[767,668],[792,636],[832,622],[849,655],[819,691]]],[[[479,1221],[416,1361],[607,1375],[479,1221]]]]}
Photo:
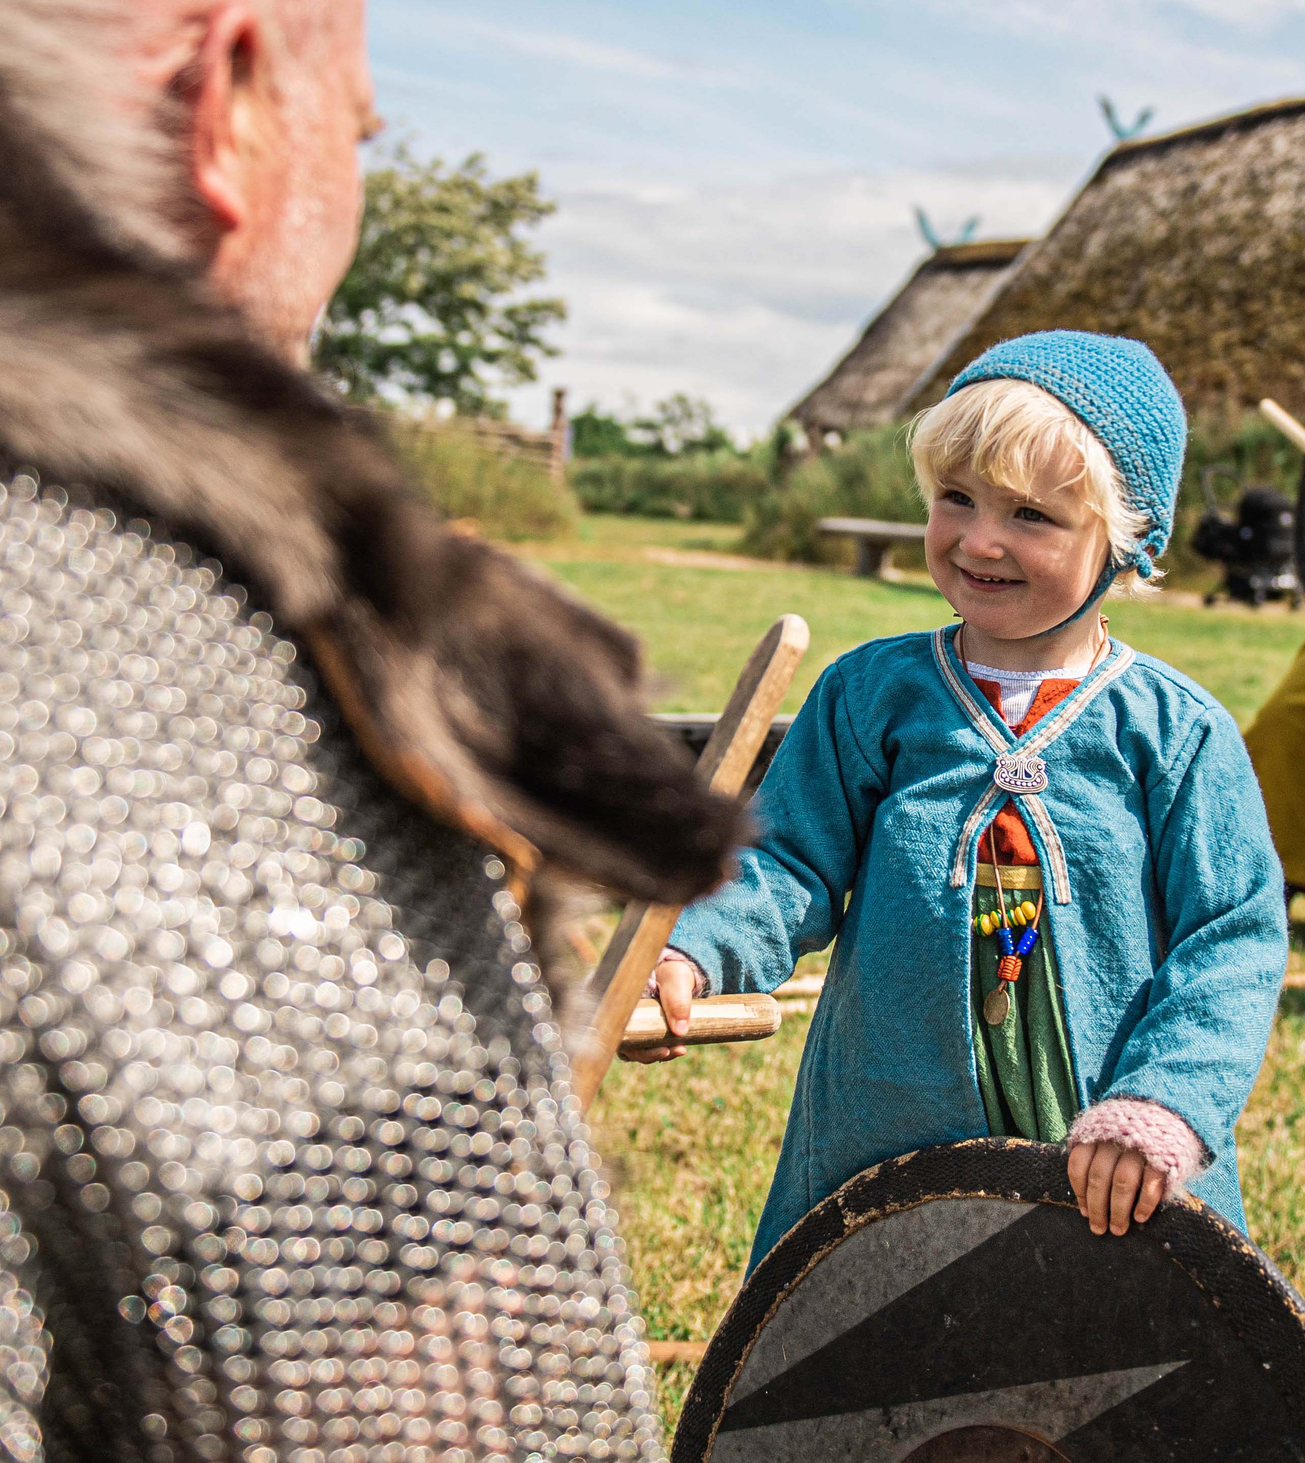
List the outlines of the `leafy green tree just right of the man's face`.
{"type": "Polygon", "coordinates": [[[492,392],[534,380],[538,357],[556,354],[544,332],[566,317],[560,300],[519,296],[544,275],[522,233],[554,208],[537,174],[490,181],[478,155],[446,168],[399,146],[366,189],[358,255],[326,310],[316,364],[351,396],[502,411],[492,392]]]}

